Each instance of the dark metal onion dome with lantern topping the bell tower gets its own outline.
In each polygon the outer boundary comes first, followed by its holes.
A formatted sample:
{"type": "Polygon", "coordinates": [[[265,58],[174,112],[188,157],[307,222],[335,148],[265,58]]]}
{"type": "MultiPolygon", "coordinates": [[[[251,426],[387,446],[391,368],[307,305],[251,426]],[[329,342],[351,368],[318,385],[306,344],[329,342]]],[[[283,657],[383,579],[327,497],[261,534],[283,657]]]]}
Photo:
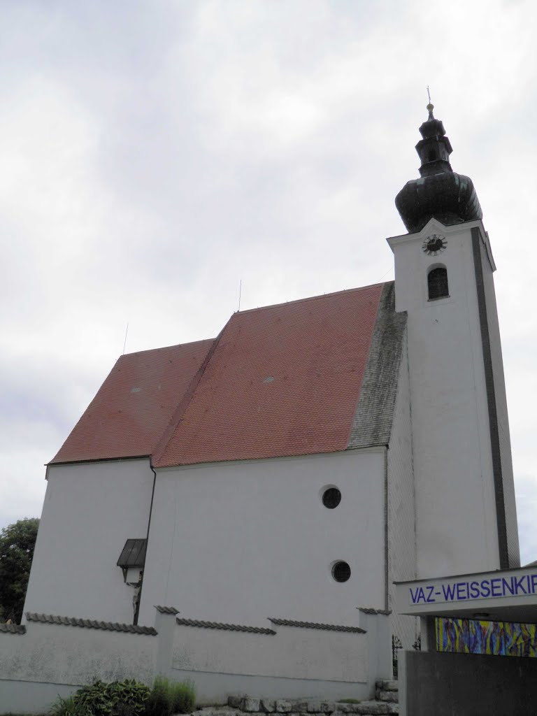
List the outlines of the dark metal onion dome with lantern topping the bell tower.
{"type": "Polygon", "coordinates": [[[420,178],[407,182],[395,197],[397,211],[409,233],[420,231],[433,216],[444,226],[483,216],[472,180],[451,168],[453,149],[433,109],[427,105],[429,118],[420,127],[422,139],[416,145],[421,160],[420,178]]]}

